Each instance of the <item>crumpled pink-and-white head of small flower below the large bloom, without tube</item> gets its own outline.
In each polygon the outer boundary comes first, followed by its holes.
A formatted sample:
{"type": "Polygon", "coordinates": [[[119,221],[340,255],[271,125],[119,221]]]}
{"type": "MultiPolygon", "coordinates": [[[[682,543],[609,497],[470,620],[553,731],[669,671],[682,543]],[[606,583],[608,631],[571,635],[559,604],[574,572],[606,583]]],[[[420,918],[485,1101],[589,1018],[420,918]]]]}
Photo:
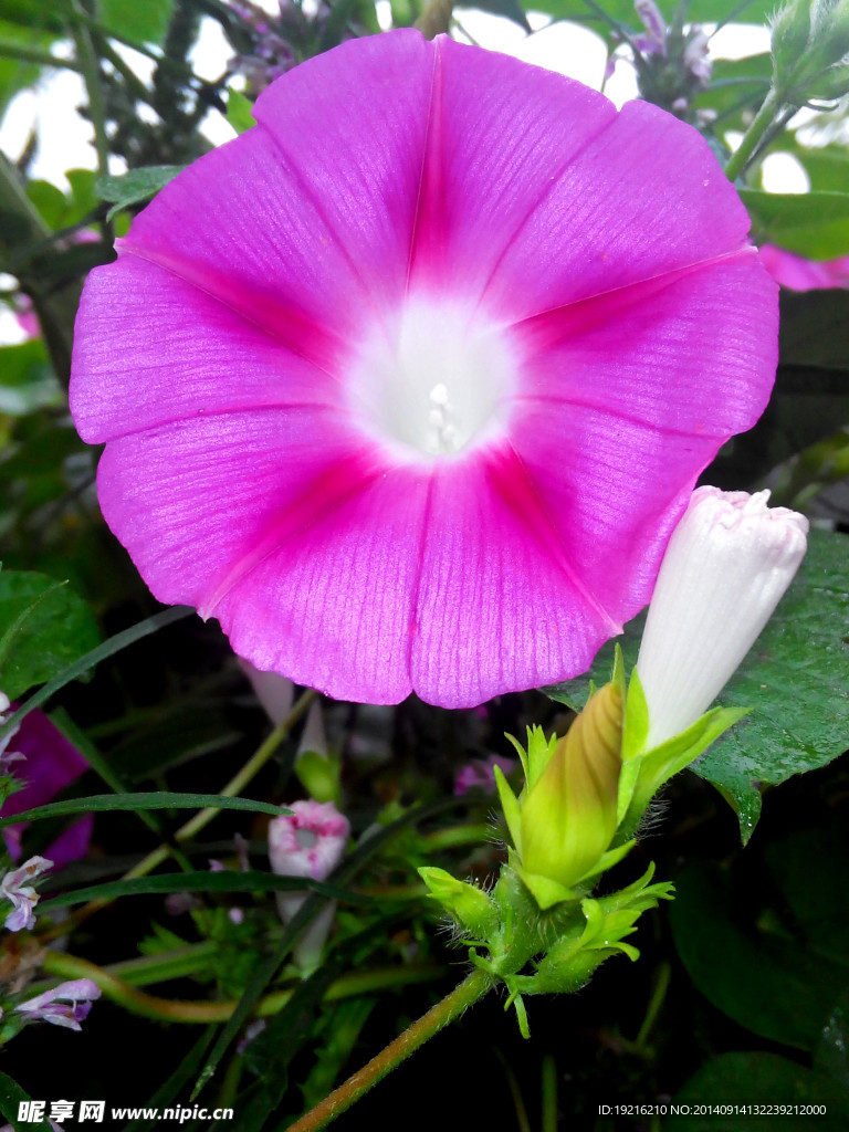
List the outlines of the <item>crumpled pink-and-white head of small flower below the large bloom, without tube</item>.
{"type": "Polygon", "coordinates": [[[342,860],[351,832],[332,801],[295,801],[268,824],[268,858],[278,876],[324,881],[342,860]]]}

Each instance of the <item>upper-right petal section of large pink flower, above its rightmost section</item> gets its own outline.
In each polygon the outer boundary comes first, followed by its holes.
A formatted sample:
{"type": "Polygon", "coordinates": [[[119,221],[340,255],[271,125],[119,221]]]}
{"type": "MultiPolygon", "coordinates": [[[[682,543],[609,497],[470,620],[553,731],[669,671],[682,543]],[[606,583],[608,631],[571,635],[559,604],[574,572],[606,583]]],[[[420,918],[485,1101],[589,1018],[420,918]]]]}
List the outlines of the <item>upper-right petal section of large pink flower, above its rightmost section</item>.
{"type": "Polygon", "coordinates": [[[748,229],[700,134],[628,102],[512,233],[487,300],[518,320],[737,251],[748,229]]]}

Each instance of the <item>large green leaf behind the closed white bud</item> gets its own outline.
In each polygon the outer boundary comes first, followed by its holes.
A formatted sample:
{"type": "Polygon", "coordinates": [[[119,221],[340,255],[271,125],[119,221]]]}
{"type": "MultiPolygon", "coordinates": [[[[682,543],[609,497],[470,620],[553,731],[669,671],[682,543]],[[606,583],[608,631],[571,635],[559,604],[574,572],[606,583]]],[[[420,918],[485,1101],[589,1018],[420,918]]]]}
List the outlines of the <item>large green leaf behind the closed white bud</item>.
{"type": "MultiPolygon", "coordinates": [[[[620,637],[628,669],[636,663],[644,615],[620,637]]],[[[692,770],[712,782],[737,813],[748,840],[761,791],[794,774],[825,766],[849,746],[849,539],[812,530],[801,568],[748,657],[719,697],[749,714],[692,770]]],[[[612,643],[584,676],[544,688],[580,711],[591,679],[609,677],[612,643]]]]}

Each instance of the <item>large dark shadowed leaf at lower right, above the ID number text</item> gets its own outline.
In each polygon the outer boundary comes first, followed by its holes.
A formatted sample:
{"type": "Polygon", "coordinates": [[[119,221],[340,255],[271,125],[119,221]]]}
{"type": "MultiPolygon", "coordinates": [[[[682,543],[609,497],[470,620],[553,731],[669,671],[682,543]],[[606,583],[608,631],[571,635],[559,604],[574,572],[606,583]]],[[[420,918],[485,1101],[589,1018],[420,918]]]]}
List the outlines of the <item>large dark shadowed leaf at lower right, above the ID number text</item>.
{"type": "Polygon", "coordinates": [[[847,967],[738,921],[728,881],[714,865],[685,868],[675,885],[672,936],[702,994],[761,1037],[813,1049],[835,995],[849,986],[847,967]]]}

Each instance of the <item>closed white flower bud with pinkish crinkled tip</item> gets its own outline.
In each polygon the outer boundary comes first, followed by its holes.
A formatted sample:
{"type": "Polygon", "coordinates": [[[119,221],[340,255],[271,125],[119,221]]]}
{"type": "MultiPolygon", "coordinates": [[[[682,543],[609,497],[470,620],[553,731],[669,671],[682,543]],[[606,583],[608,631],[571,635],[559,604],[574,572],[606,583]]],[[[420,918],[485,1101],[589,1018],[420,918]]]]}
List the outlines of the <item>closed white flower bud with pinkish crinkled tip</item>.
{"type": "Polygon", "coordinates": [[[669,541],[636,666],[648,749],[707,710],[799,567],[808,521],[769,498],[697,488],[669,541]]]}

